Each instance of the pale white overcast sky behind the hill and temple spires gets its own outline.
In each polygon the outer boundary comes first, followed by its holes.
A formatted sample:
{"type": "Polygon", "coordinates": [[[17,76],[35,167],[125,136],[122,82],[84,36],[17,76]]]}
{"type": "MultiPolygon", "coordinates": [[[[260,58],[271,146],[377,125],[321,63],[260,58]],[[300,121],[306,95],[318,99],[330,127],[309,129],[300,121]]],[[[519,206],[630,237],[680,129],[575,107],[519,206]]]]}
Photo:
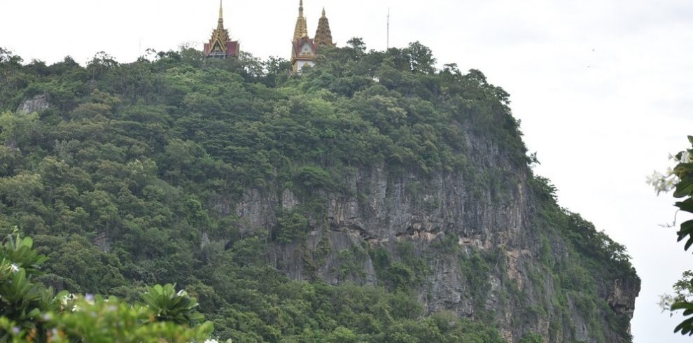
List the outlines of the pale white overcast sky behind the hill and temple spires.
{"type": "MultiPolygon", "coordinates": [[[[225,25],[241,50],[289,57],[298,0],[225,1],[225,25]]],[[[693,1],[690,0],[305,0],[309,33],[323,6],[343,45],[421,41],[440,64],[480,69],[510,92],[535,170],[559,188],[563,207],[625,244],[643,290],[635,342],[688,342],[679,318],[655,303],[691,267],[675,244],[673,200],[645,185],[667,153],[693,134],[693,1]]],[[[0,0],[0,46],[49,64],[85,63],[104,50],[132,62],[146,48],[209,39],[216,0],[0,0]]]]}

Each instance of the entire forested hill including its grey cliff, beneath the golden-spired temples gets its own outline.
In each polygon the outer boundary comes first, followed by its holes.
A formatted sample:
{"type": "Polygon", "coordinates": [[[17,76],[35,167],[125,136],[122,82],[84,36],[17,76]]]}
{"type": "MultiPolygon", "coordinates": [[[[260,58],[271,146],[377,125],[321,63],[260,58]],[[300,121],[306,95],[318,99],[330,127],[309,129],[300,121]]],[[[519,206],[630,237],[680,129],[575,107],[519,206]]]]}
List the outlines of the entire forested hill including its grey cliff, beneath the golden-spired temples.
{"type": "Polygon", "coordinates": [[[58,290],[177,283],[239,343],[630,342],[624,247],[533,175],[507,92],[434,64],[0,50],[0,237],[58,290]]]}

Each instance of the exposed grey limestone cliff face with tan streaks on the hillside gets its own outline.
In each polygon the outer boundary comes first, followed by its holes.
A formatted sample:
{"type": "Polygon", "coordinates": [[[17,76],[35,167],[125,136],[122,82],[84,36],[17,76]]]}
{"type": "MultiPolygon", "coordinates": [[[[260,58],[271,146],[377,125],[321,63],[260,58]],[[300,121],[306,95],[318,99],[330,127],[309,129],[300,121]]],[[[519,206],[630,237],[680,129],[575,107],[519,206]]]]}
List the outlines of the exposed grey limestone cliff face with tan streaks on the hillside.
{"type": "MultiPolygon", "coordinates": [[[[380,165],[345,173],[341,190],[311,195],[325,200],[325,216],[310,218],[307,239],[276,244],[270,259],[293,279],[370,284],[387,282],[396,262],[414,261],[413,275],[397,276],[412,281],[427,311],[494,321],[509,342],[528,332],[545,342],[629,341],[637,276],[588,270],[588,283],[566,288],[551,266],[570,265],[573,248],[550,223],[540,224],[529,169],[484,139],[468,146],[468,172],[424,176],[380,165]],[[377,260],[377,251],[391,260],[377,260]]],[[[216,208],[235,212],[241,230],[271,231],[278,211],[302,202],[276,187],[216,208]]]]}

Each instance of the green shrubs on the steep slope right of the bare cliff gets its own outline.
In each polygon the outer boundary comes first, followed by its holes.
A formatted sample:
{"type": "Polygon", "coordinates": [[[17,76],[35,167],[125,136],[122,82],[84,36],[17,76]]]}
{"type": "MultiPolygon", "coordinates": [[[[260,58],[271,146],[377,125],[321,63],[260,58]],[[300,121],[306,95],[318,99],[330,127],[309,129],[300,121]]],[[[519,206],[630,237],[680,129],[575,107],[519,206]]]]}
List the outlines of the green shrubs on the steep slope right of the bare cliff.
{"type": "Polygon", "coordinates": [[[620,339],[630,341],[630,316],[617,311],[598,293],[598,289],[608,289],[617,282],[620,287],[638,289],[640,279],[626,248],[597,231],[579,214],[559,207],[556,188],[548,179],[534,176],[528,185],[538,203],[533,221],[538,228],[535,239],[540,265],[527,264],[526,268],[539,293],[551,295],[533,305],[529,312],[532,316],[551,318],[551,341],[575,334],[572,311],[585,319],[587,330],[595,339],[606,340],[606,332],[617,332],[620,339]],[[554,285],[550,290],[544,287],[548,281],[554,285]]]}

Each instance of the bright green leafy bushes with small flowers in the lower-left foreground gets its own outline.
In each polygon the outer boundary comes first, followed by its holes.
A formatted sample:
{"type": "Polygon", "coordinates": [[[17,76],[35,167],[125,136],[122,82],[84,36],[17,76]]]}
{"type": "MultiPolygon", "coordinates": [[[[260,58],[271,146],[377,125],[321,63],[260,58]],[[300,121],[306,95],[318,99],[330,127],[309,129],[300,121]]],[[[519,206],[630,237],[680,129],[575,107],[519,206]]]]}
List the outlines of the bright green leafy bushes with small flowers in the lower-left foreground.
{"type": "Polygon", "coordinates": [[[0,248],[0,339],[3,342],[202,342],[214,330],[193,309],[195,298],[172,285],[144,293],[146,305],[116,297],[55,294],[31,276],[46,258],[33,241],[8,236],[0,248]],[[189,325],[193,327],[190,328],[189,325]]]}

